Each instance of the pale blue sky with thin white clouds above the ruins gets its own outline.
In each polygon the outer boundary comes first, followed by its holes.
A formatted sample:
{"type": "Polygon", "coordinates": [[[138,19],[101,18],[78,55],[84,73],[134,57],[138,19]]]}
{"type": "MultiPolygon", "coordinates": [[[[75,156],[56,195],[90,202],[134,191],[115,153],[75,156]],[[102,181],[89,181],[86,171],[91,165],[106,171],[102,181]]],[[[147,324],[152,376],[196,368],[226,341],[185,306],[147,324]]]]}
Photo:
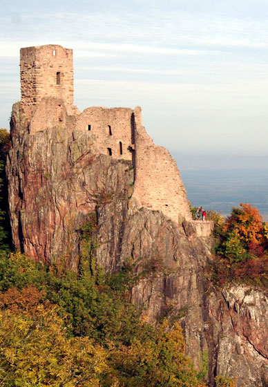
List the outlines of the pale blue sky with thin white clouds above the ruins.
{"type": "Polygon", "coordinates": [[[75,104],[142,106],[182,169],[268,169],[267,0],[0,0],[0,127],[19,48],[73,48],[75,104]]]}

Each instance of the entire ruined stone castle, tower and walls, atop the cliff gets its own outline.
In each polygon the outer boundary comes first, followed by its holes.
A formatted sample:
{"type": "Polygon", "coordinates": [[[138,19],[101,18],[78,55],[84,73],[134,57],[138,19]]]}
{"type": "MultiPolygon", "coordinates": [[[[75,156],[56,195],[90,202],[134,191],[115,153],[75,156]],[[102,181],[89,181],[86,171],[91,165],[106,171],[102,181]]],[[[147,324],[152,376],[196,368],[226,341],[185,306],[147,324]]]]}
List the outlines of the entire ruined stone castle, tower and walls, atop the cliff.
{"type": "Polygon", "coordinates": [[[131,208],[162,211],[176,223],[191,221],[177,164],[169,151],[153,144],[142,126],[140,107],[92,107],[80,113],[73,105],[73,50],[57,45],[21,48],[20,66],[21,106],[30,134],[55,126],[66,135],[88,132],[99,153],[133,162],[131,208]]]}

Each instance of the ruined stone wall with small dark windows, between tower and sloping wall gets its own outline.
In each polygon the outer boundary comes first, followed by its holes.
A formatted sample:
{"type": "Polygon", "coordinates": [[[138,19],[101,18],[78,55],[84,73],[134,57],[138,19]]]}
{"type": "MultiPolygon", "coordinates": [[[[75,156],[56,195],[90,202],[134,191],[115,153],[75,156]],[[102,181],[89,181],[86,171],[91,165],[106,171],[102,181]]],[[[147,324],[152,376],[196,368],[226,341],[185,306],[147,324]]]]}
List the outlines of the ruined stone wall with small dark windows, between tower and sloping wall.
{"type": "Polygon", "coordinates": [[[95,134],[101,153],[133,160],[134,120],[131,108],[92,107],[77,117],[77,129],[95,134]]]}

